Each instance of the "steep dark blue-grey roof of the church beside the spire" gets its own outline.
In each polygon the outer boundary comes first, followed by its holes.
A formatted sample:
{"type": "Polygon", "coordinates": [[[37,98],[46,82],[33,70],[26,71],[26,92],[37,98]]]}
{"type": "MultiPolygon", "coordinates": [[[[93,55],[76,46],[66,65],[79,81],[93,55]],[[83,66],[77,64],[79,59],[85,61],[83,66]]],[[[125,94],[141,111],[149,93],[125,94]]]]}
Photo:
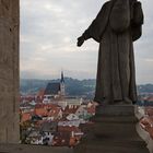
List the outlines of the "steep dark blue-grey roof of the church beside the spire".
{"type": "Polygon", "coordinates": [[[45,90],[45,95],[50,95],[50,94],[57,95],[59,91],[60,91],[60,83],[59,82],[48,83],[47,87],[45,90]]]}

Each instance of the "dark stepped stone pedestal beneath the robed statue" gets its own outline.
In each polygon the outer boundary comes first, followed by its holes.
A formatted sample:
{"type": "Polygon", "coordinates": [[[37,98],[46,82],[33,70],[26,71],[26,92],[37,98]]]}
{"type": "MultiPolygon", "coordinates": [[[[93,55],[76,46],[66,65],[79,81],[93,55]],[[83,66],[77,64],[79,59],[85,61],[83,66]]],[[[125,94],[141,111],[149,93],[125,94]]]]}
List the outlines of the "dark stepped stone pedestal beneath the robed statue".
{"type": "Polygon", "coordinates": [[[98,106],[92,121],[94,126],[75,153],[149,153],[136,130],[134,106],[98,106]]]}

